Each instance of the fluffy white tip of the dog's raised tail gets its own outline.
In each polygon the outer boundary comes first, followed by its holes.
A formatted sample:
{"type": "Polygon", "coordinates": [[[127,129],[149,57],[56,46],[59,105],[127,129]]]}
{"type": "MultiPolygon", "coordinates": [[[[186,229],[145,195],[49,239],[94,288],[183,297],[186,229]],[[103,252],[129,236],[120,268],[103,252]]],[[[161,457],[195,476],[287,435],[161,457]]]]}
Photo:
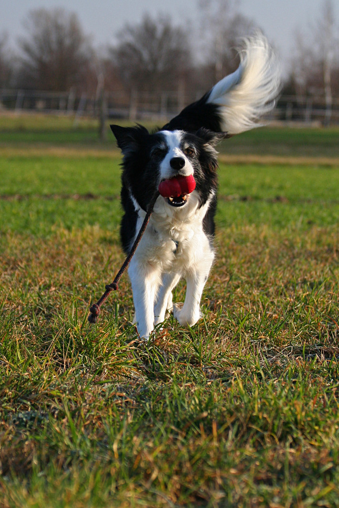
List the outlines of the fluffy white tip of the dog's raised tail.
{"type": "Polygon", "coordinates": [[[278,60],[260,32],[244,40],[239,54],[238,69],[213,86],[207,101],[220,106],[222,128],[229,134],[258,126],[259,118],[274,108],[281,88],[278,60]]]}

